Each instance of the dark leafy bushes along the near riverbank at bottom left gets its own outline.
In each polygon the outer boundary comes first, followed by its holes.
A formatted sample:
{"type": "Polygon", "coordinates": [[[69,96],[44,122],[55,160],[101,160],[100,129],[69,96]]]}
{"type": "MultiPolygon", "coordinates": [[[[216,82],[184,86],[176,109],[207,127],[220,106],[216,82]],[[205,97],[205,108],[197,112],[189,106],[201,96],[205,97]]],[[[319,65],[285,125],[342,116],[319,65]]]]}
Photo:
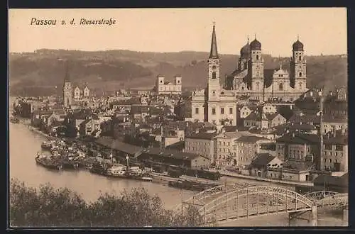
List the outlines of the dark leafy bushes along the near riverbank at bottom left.
{"type": "Polygon", "coordinates": [[[165,210],[160,198],[145,189],[119,196],[106,193],[87,203],[70,189],[54,189],[50,184],[35,189],[17,179],[11,179],[9,208],[10,225],[16,227],[191,227],[203,223],[195,206],[185,208],[184,214],[165,210]]]}

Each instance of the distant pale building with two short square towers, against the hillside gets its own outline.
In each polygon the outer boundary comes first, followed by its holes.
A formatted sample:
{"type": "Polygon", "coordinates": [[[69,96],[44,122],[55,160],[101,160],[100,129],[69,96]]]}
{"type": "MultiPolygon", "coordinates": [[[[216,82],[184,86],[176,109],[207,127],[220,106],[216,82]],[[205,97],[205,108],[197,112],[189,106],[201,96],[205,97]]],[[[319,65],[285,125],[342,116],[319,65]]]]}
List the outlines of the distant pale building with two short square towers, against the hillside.
{"type": "Polygon", "coordinates": [[[165,77],[161,74],[158,75],[155,89],[157,94],[180,94],[182,91],[182,77],[176,75],[175,82],[165,82],[165,77]]]}

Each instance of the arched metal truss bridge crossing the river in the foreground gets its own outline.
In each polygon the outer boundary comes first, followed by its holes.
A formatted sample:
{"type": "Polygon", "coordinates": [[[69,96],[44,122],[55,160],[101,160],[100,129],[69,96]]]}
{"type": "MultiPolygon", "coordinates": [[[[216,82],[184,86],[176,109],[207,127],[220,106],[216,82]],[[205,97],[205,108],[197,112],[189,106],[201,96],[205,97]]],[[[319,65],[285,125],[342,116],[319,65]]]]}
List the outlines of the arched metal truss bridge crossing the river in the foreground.
{"type": "Polygon", "coordinates": [[[174,211],[183,213],[187,206],[197,207],[204,225],[278,213],[288,214],[289,223],[295,219],[306,219],[317,225],[317,208],[343,208],[343,220],[346,219],[348,194],[317,191],[302,195],[277,186],[229,184],[202,191],[183,201],[174,211]],[[307,218],[303,218],[304,214],[307,218]]]}

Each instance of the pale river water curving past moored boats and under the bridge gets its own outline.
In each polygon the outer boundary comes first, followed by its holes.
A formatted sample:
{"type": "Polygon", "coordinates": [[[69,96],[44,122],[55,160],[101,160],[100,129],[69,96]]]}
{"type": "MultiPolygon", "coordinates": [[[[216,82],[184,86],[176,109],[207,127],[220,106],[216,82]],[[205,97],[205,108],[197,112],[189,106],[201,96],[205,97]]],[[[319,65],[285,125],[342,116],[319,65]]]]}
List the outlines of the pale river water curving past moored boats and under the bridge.
{"type": "MultiPolygon", "coordinates": [[[[94,201],[101,193],[109,192],[119,194],[121,191],[131,190],[135,187],[143,187],[149,194],[157,194],[163,201],[165,208],[173,208],[180,204],[182,199],[188,199],[197,192],[181,191],[169,186],[151,182],[138,182],[129,179],[107,178],[97,174],[92,174],[85,170],[80,171],[51,171],[40,167],[35,163],[35,155],[40,151],[40,144],[45,140],[43,135],[39,135],[24,124],[9,123],[9,173],[10,178],[19,179],[28,186],[38,187],[40,184],[50,183],[55,188],[67,187],[81,194],[87,201],[94,201]]],[[[222,178],[226,179],[226,178],[222,178]]],[[[246,179],[231,179],[241,183],[256,184],[246,179]]],[[[259,183],[258,183],[259,184],[259,183]]],[[[264,184],[264,183],[263,183],[264,184]]],[[[226,226],[285,226],[288,225],[288,216],[274,215],[261,216],[242,221],[234,221],[226,226]]],[[[305,222],[296,222],[293,225],[307,225],[305,222]]],[[[344,225],[342,214],[318,212],[318,225],[344,225]]],[[[347,224],[346,224],[347,225],[347,224]]]]}

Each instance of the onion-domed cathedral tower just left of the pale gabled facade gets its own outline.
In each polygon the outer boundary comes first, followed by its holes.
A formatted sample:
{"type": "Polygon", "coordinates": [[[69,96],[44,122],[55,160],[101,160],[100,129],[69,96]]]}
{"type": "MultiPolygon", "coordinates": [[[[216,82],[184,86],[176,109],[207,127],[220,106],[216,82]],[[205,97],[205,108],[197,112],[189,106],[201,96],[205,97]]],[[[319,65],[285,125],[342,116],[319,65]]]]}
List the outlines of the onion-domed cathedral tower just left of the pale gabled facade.
{"type": "Polygon", "coordinates": [[[261,43],[255,39],[250,43],[251,59],[249,60],[249,89],[252,91],[263,91],[264,60],[261,56],[261,43]]]}

